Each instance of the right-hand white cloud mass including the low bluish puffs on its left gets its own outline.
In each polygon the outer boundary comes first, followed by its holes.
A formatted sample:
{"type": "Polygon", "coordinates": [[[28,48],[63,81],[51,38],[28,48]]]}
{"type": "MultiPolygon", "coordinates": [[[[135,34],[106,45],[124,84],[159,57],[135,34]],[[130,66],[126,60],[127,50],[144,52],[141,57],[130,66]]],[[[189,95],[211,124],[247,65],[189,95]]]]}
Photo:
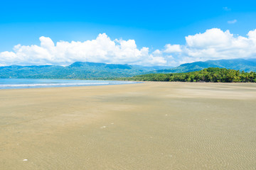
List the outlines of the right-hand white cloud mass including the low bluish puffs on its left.
{"type": "Polygon", "coordinates": [[[233,35],[229,30],[212,28],[204,33],[186,36],[185,45],[169,45],[163,52],[169,65],[188,62],[255,58],[256,30],[250,30],[246,37],[233,35]],[[167,55],[168,53],[168,55],[167,55]]]}

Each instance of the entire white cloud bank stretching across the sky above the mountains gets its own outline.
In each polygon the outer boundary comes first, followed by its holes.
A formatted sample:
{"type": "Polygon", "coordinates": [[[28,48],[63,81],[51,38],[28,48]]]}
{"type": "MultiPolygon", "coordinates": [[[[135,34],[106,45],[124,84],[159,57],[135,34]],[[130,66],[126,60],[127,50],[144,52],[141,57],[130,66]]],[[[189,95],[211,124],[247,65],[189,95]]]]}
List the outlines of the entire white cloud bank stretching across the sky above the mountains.
{"type": "Polygon", "coordinates": [[[186,62],[256,57],[256,30],[242,37],[229,30],[212,28],[205,33],[186,36],[185,45],[166,44],[153,52],[149,47],[138,49],[135,40],[111,40],[105,33],[85,42],[54,43],[43,36],[39,40],[39,46],[16,45],[12,52],[0,52],[0,66],[68,65],[78,61],[178,66],[186,62]]]}

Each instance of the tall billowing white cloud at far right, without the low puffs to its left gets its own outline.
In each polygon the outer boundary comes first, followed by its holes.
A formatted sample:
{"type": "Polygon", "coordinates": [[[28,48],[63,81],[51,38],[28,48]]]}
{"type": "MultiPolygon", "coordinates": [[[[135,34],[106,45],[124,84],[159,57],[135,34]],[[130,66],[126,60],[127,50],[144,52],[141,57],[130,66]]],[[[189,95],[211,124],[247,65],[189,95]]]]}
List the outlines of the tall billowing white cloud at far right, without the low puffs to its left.
{"type": "Polygon", "coordinates": [[[251,30],[246,37],[233,35],[218,28],[205,33],[188,35],[183,47],[184,55],[196,60],[219,60],[255,57],[256,30],[251,30]]]}

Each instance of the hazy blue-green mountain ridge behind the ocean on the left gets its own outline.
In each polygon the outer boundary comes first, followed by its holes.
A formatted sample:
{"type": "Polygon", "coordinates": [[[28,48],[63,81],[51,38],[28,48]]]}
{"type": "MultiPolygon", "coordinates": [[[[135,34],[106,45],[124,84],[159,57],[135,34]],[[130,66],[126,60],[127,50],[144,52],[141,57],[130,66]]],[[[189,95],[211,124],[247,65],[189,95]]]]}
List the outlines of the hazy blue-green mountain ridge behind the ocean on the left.
{"type": "Polygon", "coordinates": [[[107,77],[132,77],[158,69],[171,67],[144,67],[129,64],[75,62],[67,67],[56,65],[0,67],[0,78],[22,79],[97,79],[107,77]]]}

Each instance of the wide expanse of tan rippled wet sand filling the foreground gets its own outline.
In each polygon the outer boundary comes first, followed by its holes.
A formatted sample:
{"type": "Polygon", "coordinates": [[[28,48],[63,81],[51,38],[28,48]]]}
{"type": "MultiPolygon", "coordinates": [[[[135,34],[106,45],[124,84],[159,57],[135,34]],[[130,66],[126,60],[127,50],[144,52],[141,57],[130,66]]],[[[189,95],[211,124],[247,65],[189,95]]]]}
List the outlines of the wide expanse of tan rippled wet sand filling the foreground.
{"type": "Polygon", "coordinates": [[[256,169],[256,84],[0,90],[0,169],[256,169]]]}

